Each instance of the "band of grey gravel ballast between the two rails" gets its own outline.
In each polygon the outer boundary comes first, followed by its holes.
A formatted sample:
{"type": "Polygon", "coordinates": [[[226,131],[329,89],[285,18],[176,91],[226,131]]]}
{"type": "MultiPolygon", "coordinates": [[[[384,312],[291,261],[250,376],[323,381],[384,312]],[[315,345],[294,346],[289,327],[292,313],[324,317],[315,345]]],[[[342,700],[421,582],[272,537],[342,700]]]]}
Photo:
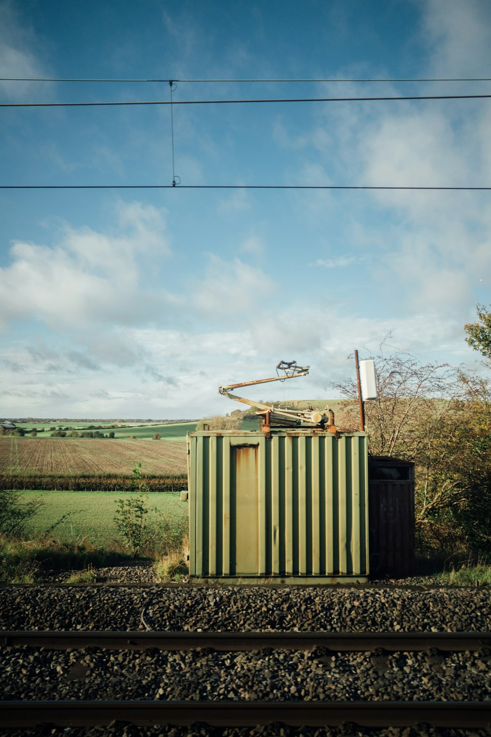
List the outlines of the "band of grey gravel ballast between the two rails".
{"type": "Polygon", "coordinates": [[[7,647],[4,700],[490,701],[488,659],[451,653],[68,652],[7,647]]]}

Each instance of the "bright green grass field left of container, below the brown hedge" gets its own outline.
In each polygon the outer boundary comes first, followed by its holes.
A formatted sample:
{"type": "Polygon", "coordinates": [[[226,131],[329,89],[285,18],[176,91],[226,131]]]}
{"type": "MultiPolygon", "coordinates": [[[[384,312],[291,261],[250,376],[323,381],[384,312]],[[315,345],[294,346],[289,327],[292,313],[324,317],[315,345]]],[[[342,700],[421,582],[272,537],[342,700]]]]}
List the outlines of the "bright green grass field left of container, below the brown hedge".
{"type": "MultiPolygon", "coordinates": [[[[18,492],[18,495],[21,502],[43,501],[38,514],[26,526],[26,539],[49,537],[70,544],[85,539],[94,547],[107,549],[113,548],[119,539],[114,524],[116,500],[135,497],[118,492],[18,492]],[[63,521],[53,527],[64,515],[63,521]]],[[[187,518],[188,503],[180,501],[179,492],[149,494],[148,506],[158,510],[146,515],[149,522],[157,522],[165,515],[171,525],[178,525],[187,518]]]]}

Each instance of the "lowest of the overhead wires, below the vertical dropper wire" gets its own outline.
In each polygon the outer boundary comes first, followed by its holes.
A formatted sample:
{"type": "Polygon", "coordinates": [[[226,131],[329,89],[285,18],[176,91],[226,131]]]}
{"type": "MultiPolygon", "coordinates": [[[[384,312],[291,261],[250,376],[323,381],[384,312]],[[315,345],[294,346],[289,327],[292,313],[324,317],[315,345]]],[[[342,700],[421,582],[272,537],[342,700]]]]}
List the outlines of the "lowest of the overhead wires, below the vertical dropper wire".
{"type": "Polygon", "coordinates": [[[0,184],[0,189],[409,189],[489,192],[491,186],[387,186],[365,184],[0,184]]]}

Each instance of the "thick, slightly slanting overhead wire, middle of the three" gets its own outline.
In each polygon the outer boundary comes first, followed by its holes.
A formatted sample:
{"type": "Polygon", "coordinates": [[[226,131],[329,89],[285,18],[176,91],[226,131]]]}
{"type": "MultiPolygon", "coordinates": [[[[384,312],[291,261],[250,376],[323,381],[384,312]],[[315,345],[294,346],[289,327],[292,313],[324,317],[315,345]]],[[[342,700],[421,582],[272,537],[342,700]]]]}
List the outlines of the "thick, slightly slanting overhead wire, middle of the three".
{"type": "Polygon", "coordinates": [[[372,102],[403,99],[486,99],[491,94],[411,95],[408,97],[286,97],[271,99],[174,99],[127,102],[0,102],[0,108],[63,108],[100,105],[235,105],[260,102],[372,102]]]}

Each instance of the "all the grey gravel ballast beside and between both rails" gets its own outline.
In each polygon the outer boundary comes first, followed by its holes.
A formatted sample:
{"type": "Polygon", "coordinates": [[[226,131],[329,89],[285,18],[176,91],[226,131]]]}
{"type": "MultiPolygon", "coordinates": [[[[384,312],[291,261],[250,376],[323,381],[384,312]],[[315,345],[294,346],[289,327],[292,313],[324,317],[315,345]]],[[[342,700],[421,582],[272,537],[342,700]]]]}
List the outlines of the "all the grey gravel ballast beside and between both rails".
{"type": "MultiPolygon", "coordinates": [[[[486,588],[234,587],[209,585],[24,586],[0,588],[0,628],[18,630],[485,632],[491,631],[486,588]]],[[[150,699],[267,701],[491,701],[486,653],[54,651],[4,646],[2,699],[150,699]]],[[[488,730],[344,731],[292,728],[110,727],[0,730],[0,736],[162,735],[289,737],[481,737],[488,730]]]]}

